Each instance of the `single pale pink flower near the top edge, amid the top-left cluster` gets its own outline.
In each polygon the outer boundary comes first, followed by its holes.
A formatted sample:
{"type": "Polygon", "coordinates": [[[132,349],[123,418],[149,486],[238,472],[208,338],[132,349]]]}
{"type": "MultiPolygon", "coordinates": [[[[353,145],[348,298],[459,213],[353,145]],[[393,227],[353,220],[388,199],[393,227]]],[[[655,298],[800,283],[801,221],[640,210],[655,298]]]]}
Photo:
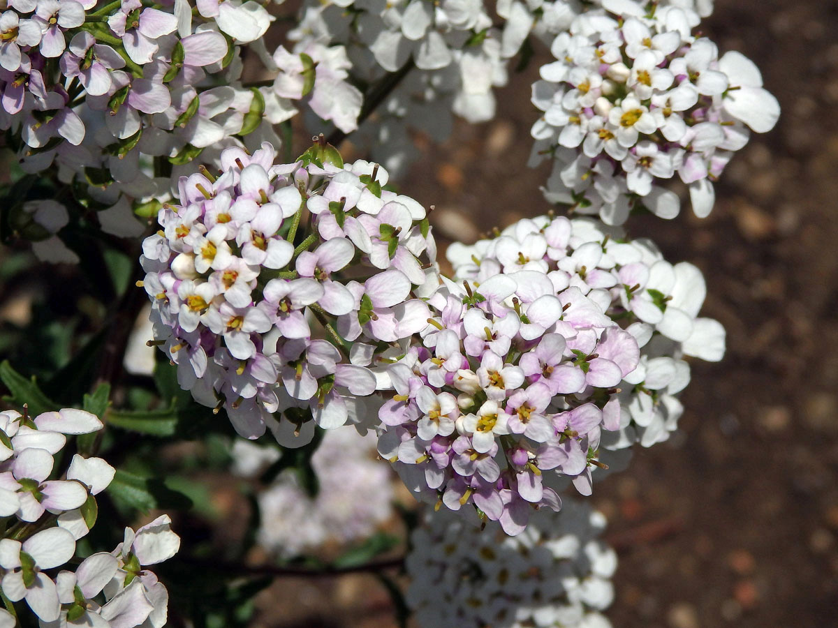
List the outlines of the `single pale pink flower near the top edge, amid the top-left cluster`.
{"type": "Polygon", "coordinates": [[[122,0],[119,11],[108,18],[108,26],[122,39],[122,45],[136,64],[147,64],[158,51],[157,40],[178,28],[178,18],[156,8],[143,8],[140,0],[122,0]]]}

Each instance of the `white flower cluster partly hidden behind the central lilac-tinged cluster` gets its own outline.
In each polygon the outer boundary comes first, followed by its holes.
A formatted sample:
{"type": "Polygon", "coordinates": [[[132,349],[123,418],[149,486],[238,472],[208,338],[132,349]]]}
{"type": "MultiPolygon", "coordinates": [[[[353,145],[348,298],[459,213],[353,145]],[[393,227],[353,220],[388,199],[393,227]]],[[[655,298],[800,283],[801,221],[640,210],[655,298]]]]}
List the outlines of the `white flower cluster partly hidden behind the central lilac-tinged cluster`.
{"type": "Polygon", "coordinates": [[[717,362],[724,356],[724,328],[698,316],[706,296],[701,270],[672,265],[650,240],[627,240],[621,229],[592,219],[520,220],[495,239],[448,249],[458,277],[470,281],[515,270],[519,254],[557,287],[575,286],[596,300],[639,346],[636,368],[611,384],[621,390],[619,430],[603,433],[603,447],[666,440],[682,412],[675,395],[690,383],[683,357],[717,362]]]}

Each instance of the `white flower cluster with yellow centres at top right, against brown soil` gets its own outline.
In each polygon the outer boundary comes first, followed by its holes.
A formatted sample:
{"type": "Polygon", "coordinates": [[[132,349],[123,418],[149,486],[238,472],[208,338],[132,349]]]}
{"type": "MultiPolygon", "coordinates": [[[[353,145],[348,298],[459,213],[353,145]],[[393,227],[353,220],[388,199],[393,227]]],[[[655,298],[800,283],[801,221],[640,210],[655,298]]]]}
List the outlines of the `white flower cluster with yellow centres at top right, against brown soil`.
{"type": "Polygon", "coordinates": [[[692,34],[698,16],[639,3],[583,13],[553,41],[556,61],[541,67],[532,101],[533,162],[555,157],[547,196],[580,214],[623,224],[634,208],[678,214],[675,193],[658,187],[677,174],[693,211],[710,213],[712,182],[748,129],[770,131],[779,105],[742,54],[721,58],[692,34]]]}

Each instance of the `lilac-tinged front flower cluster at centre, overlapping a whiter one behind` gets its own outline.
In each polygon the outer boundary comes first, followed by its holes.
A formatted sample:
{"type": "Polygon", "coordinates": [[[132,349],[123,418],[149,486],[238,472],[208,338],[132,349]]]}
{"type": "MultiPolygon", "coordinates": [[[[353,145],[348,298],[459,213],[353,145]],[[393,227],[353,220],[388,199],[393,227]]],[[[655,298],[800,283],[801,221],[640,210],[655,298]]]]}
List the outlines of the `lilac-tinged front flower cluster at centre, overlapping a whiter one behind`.
{"type": "Polygon", "coordinates": [[[569,227],[525,221],[492,241],[463,286],[429,299],[422,344],[387,368],[381,456],[425,500],[473,505],[510,534],[533,507],[559,509],[552,476],[591,492],[601,431],[620,425],[616,387],[639,363],[607,314],[608,274],[572,266],[569,227]]]}

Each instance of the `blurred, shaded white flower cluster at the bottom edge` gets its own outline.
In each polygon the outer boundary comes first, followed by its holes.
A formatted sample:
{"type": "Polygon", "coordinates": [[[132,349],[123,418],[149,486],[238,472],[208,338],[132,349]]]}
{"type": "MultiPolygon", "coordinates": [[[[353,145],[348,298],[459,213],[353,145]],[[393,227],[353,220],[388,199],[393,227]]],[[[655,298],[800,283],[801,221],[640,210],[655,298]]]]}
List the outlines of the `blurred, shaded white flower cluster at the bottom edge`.
{"type": "Polygon", "coordinates": [[[411,536],[407,604],[423,628],[610,628],[599,611],[613,600],[617,556],[597,538],[604,528],[570,500],[516,537],[434,513],[411,536]]]}

